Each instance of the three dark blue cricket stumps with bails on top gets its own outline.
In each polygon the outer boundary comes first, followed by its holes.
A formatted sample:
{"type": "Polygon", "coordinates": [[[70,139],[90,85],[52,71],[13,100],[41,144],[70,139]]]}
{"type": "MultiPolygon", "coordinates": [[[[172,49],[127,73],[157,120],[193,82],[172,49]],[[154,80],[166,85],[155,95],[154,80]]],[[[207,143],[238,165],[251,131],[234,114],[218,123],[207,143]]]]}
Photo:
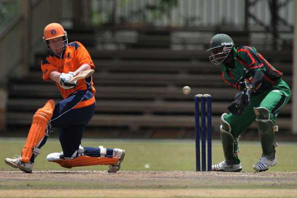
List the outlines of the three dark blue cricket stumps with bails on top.
{"type": "Polygon", "coordinates": [[[211,171],[212,169],[212,96],[210,94],[197,94],[195,95],[196,171],[201,171],[201,170],[206,171],[206,129],[207,129],[207,171],[211,171]],[[205,103],[207,104],[207,107],[205,103]],[[199,107],[199,104],[201,104],[200,107],[199,107]],[[201,112],[199,111],[200,108],[201,108],[201,112]],[[207,120],[205,118],[205,115],[207,115],[207,120]],[[201,137],[201,166],[200,166],[200,137],[201,137]]]}

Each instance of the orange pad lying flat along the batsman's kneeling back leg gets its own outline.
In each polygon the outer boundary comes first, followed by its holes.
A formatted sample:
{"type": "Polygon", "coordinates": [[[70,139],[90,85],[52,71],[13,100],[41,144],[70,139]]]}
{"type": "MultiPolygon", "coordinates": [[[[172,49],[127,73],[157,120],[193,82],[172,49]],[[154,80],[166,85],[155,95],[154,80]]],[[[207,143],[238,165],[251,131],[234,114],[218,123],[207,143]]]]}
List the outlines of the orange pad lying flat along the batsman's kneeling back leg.
{"type": "Polygon", "coordinates": [[[70,159],[60,159],[60,152],[50,153],[47,155],[47,160],[56,162],[62,167],[72,168],[75,166],[87,166],[87,165],[110,165],[116,164],[118,158],[116,157],[91,157],[87,155],[78,156],[70,159]]]}

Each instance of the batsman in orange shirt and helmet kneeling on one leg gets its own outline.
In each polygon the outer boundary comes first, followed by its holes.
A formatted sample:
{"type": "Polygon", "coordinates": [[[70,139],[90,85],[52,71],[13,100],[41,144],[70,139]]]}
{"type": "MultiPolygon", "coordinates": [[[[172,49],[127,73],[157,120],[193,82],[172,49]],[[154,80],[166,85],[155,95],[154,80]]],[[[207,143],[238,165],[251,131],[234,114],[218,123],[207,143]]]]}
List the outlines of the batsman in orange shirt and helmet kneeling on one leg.
{"type": "Polygon", "coordinates": [[[95,110],[95,88],[92,76],[74,82],[71,79],[80,71],[95,67],[88,51],[78,41],[68,43],[67,33],[59,23],[45,26],[43,40],[49,54],[41,61],[42,79],[53,80],[63,100],[55,104],[49,99],[35,112],[21,155],[5,158],[5,163],[31,173],[34,159],[51,128],[57,127],[62,152],[48,154],[48,161],[67,168],[109,164],[108,172],[118,171],[125,156],[124,149],[81,145],[84,128],[95,110]]]}

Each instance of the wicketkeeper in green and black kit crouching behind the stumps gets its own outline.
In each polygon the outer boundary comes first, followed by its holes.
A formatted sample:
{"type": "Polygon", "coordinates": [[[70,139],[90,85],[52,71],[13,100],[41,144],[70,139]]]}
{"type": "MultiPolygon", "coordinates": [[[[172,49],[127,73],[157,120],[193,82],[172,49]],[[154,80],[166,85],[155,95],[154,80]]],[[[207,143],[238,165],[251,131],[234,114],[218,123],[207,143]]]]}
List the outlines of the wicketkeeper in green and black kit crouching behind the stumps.
{"type": "Polygon", "coordinates": [[[272,66],[254,47],[235,47],[232,38],[224,33],[210,40],[209,59],[221,65],[222,78],[238,89],[235,100],[228,106],[231,113],[221,116],[220,133],[225,160],[212,165],[214,171],[241,171],[238,157],[239,137],[253,121],[258,124],[263,154],[253,165],[265,171],[277,164],[274,124],[280,109],[291,96],[283,73],[272,66]]]}

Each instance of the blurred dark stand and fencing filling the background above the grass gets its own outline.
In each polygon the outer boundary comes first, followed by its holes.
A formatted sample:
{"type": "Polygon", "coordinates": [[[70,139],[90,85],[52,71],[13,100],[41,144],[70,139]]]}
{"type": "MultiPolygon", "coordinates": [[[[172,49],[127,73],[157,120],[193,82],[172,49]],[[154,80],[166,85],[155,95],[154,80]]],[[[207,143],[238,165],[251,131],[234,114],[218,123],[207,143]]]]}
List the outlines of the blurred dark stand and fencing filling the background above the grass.
{"type": "MultiPolygon", "coordinates": [[[[97,106],[85,136],[194,138],[194,96],[209,93],[219,138],[236,90],[208,60],[210,38],[227,33],[236,46],[256,47],[295,94],[296,7],[295,0],[0,0],[1,136],[26,136],[36,109],[61,99],[40,70],[43,28],[59,22],[96,65],[97,106]]],[[[277,119],[278,138],[297,140],[294,94],[277,119]]],[[[243,138],[258,139],[255,124],[243,138]]]]}

